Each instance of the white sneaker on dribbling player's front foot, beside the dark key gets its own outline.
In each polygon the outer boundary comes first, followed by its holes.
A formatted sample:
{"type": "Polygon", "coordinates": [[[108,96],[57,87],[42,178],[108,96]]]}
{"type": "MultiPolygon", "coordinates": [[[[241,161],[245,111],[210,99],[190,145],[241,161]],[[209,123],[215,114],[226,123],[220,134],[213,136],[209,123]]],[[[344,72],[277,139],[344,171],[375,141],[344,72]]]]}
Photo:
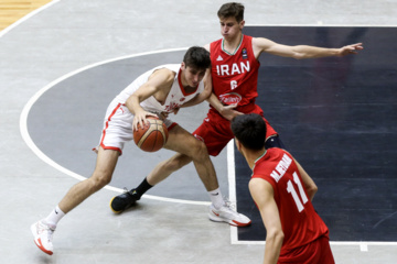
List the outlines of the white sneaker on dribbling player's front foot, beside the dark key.
{"type": "Polygon", "coordinates": [[[234,227],[247,227],[251,223],[246,216],[232,210],[228,206],[223,206],[216,209],[213,205],[210,206],[210,220],[215,222],[227,222],[234,227]]]}

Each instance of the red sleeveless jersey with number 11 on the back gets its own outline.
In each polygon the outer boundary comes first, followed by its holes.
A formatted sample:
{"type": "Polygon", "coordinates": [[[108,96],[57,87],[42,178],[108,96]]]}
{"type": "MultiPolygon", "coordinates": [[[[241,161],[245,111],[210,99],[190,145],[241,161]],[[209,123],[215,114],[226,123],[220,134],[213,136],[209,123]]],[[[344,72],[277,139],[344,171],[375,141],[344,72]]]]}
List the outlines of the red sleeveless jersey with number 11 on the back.
{"type": "Polygon", "coordinates": [[[297,164],[289,153],[277,147],[268,148],[256,161],[251,177],[262,178],[273,188],[285,233],[280,256],[322,235],[328,238],[329,229],[314,211],[297,164]]]}

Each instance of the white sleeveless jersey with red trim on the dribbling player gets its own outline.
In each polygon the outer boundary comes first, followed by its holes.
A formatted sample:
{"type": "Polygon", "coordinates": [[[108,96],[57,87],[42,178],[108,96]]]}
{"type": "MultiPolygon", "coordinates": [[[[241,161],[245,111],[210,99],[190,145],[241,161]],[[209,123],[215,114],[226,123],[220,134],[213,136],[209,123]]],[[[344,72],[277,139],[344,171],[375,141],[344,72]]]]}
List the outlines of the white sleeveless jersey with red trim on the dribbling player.
{"type": "Polygon", "coordinates": [[[168,64],[158,66],[153,69],[150,69],[139,76],[133,80],[126,89],[124,89],[117,97],[116,100],[120,103],[125,103],[127,99],[141,87],[144,82],[148,81],[149,77],[157,70],[161,68],[168,68],[176,73],[172,87],[169,95],[165,98],[165,102],[161,105],[153,96],[149,97],[144,101],[140,102],[140,106],[149,112],[161,113],[161,112],[172,112],[175,108],[181,107],[183,103],[192,100],[197,94],[204,90],[203,81],[200,81],[198,86],[193,92],[186,94],[183,89],[181,82],[181,64],[168,64]]]}

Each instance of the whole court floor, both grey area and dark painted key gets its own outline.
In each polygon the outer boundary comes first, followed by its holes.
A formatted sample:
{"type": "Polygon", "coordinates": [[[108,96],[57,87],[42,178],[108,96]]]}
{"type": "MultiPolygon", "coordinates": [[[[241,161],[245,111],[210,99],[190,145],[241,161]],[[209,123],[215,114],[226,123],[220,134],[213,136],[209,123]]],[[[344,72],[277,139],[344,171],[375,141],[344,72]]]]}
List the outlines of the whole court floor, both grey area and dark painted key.
{"type": "MultiPolygon", "coordinates": [[[[260,222],[239,230],[211,222],[208,197],[193,166],[152,188],[133,209],[115,216],[108,207],[111,197],[139,184],[153,165],[172,155],[146,154],[133,143],[126,146],[110,185],[61,221],[54,255],[36,249],[29,229],[72,185],[90,175],[96,157],[90,150],[98,143],[110,100],[150,67],[179,63],[186,47],[219,38],[216,11],[222,3],[52,1],[0,32],[1,263],[261,263],[264,234],[256,230],[260,222]]],[[[291,45],[365,40],[365,51],[351,61],[261,62],[271,69],[261,80],[271,89],[260,95],[259,102],[264,108],[270,103],[270,122],[291,152],[303,158],[299,161],[308,164],[314,180],[321,175],[315,202],[329,221],[336,263],[395,263],[397,69],[396,48],[387,43],[396,32],[397,2],[247,1],[245,6],[246,23],[251,25],[247,34],[291,45]],[[283,87],[301,90],[305,84],[323,90],[280,94],[283,87]],[[314,106],[319,100],[320,108],[314,106]],[[367,128],[373,123],[377,131],[367,128]],[[305,136],[294,130],[304,130],[305,136]],[[366,135],[378,136],[378,144],[368,143],[372,152],[361,144],[366,135]],[[348,166],[336,169],[341,158],[348,166]]],[[[183,110],[174,120],[192,131],[207,106],[183,110]]],[[[230,144],[213,158],[222,191],[254,217],[251,200],[243,197],[247,193],[239,154],[233,153],[230,144]]]]}

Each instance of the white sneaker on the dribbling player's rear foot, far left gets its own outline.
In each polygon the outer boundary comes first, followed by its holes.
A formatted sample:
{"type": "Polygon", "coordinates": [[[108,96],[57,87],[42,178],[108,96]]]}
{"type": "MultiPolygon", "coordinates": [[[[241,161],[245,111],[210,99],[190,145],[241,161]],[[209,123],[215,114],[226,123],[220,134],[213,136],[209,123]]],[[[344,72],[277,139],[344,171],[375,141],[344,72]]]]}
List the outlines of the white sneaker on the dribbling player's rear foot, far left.
{"type": "Polygon", "coordinates": [[[52,237],[55,231],[55,227],[47,224],[44,220],[35,222],[31,227],[31,231],[34,237],[34,243],[41,249],[44,253],[52,255],[54,246],[52,244],[52,237]]]}

